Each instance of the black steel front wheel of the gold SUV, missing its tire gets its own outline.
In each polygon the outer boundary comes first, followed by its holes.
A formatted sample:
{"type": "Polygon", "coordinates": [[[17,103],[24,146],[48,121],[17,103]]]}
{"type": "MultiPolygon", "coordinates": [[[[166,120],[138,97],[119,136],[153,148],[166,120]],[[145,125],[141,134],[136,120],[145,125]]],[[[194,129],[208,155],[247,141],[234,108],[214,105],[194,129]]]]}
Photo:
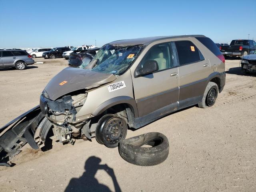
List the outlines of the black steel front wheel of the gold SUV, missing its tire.
{"type": "Polygon", "coordinates": [[[118,143],[125,139],[127,134],[127,123],[124,118],[113,114],[106,114],[100,118],[95,136],[100,144],[108,148],[115,148],[118,143]]]}

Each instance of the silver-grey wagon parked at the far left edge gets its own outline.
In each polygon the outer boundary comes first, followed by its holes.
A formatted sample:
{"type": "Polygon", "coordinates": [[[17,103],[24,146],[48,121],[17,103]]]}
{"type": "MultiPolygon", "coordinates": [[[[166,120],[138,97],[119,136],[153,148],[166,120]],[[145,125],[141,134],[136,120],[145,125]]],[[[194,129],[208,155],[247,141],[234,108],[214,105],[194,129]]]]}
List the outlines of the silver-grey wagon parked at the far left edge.
{"type": "Polygon", "coordinates": [[[0,68],[16,68],[24,70],[34,64],[32,56],[21,49],[0,50],[0,68]]]}

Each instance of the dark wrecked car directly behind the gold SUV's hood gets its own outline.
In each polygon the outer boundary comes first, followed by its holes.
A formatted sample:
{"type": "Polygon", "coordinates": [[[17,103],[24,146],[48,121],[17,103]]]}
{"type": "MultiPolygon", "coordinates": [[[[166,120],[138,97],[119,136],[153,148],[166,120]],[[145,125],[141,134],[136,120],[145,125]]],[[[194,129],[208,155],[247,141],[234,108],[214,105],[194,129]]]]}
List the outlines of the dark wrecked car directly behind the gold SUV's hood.
{"type": "Polygon", "coordinates": [[[70,54],[68,66],[80,68],[86,67],[94,58],[99,49],[100,48],[97,47],[82,51],[75,50],[70,54]]]}

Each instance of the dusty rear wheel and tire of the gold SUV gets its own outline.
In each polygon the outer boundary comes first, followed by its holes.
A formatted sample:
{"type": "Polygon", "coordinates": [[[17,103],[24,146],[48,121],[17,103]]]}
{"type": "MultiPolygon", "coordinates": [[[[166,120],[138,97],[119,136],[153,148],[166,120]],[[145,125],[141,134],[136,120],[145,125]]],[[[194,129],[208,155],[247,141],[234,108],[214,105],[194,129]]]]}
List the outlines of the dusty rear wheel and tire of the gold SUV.
{"type": "Polygon", "coordinates": [[[208,108],[215,104],[216,99],[218,97],[218,86],[214,82],[208,82],[206,89],[204,91],[204,96],[202,101],[198,103],[198,107],[200,108],[208,108]]]}

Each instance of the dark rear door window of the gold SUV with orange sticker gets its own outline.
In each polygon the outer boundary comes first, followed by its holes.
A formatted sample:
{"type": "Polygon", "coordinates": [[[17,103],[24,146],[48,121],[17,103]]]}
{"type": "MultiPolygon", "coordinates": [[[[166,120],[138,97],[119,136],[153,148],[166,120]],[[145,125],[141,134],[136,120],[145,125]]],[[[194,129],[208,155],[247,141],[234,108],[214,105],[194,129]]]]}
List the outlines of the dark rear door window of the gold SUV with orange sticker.
{"type": "Polygon", "coordinates": [[[199,53],[198,48],[191,41],[176,41],[175,45],[180,65],[204,60],[204,58],[200,59],[200,55],[202,57],[202,54],[199,53]]]}

